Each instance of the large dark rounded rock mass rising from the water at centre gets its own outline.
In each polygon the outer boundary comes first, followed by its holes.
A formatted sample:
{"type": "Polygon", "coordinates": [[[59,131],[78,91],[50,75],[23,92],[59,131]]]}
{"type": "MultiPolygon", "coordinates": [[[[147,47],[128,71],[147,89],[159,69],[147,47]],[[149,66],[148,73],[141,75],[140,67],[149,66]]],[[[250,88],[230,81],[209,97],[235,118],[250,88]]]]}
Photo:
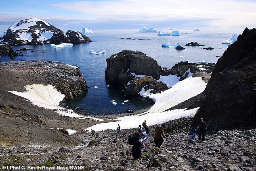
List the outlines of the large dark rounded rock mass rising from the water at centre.
{"type": "Polygon", "coordinates": [[[123,50],[107,58],[105,77],[111,82],[126,83],[131,80],[130,73],[132,72],[159,79],[162,70],[156,60],[146,56],[144,53],[123,50]]]}

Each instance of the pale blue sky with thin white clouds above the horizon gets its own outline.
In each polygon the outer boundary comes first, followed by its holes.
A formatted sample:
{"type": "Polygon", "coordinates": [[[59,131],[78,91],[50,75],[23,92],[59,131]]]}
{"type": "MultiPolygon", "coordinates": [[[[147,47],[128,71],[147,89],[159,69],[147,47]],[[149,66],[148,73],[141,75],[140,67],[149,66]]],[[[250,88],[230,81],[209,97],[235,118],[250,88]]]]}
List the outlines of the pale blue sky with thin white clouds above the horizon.
{"type": "Polygon", "coordinates": [[[92,30],[256,27],[256,0],[1,0],[0,32],[38,18],[66,32],[92,30]]]}

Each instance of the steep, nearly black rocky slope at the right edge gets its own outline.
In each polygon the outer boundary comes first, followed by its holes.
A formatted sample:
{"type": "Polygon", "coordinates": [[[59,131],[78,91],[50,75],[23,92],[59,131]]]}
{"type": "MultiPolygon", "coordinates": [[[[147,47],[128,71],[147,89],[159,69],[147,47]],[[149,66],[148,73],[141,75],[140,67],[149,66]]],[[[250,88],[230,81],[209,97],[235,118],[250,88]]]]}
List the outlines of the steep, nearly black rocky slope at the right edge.
{"type": "Polygon", "coordinates": [[[210,128],[256,126],[256,29],[246,28],[219,58],[195,115],[210,128]]]}

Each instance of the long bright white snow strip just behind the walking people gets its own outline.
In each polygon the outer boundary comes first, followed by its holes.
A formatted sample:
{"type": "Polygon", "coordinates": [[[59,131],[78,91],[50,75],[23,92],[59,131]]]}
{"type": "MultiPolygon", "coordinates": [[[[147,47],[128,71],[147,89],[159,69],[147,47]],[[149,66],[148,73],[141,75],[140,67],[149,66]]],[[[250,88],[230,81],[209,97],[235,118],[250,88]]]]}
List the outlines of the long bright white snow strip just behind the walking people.
{"type": "MultiPolygon", "coordinates": [[[[198,107],[199,108],[199,107],[198,107]]],[[[178,119],[180,117],[192,117],[197,112],[197,109],[175,109],[162,113],[147,113],[145,115],[130,115],[124,117],[118,117],[115,120],[116,122],[106,122],[101,124],[93,125],[85,130],[91,131],[103,131],[107,129],[115,130],[118,124],[122,129],[130,129],[130,128],[138,128],[142,122],[147,120],[147,126],[162,124],[164,122],[168,122],[170,120],[178,119]]]]}

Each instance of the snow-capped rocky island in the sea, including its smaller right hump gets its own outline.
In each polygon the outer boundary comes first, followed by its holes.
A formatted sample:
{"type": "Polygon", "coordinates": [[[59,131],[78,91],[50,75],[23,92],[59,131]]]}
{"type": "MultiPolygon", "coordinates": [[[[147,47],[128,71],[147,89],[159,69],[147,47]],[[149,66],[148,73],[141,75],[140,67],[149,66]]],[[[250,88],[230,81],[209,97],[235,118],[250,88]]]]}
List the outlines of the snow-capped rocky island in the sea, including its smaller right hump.
{"type": "Polygon", "coordinates": [[[10,45],[76,44],[90,41],[78,31],[67,31],[65,35],[60,29],[40,19],[25,19],[13,23],[0,37],[0,42],[8,42],[10,45]]]}

